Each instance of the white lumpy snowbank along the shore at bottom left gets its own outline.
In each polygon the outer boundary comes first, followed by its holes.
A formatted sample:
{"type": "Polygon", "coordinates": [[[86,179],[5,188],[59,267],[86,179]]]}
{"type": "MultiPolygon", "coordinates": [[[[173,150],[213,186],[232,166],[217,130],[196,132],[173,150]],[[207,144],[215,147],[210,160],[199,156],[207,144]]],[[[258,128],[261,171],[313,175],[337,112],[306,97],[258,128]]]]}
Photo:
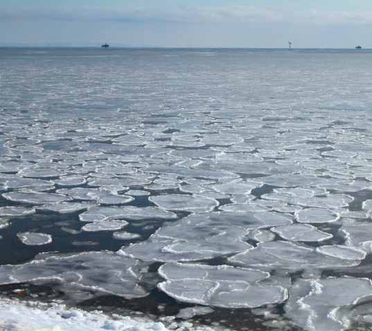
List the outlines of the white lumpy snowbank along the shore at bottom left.
{"type": "MultiPolygon", "coordinates": [[[[167,323],[168,324],[168,323],[167,323]]],[[[100,311],[85,312],[83,310],[65,310],[64,305],[57,303],[39,303],[33,301],[17,301],[0,299],[0,328],[6,331],[95,331],[95,330],[125,330],[125,331],[178,331],[188,328],[198,331],[209,330],[209,327],[193,328],[186,321],[172,321],[168,328],[163,323],[131,319],[130,316],[113,314],[111,317],[100,311]]]]}

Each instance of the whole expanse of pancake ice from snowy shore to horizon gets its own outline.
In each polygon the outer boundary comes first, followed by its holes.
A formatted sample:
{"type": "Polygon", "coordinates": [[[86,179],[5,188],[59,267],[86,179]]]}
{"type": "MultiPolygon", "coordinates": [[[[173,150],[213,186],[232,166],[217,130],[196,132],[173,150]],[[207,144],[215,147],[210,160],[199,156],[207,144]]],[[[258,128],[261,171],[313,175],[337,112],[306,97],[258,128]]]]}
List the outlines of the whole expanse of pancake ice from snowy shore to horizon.
{"type": "Polygon", "coordinates": [[[0,48],[1,328],[371,330],[371,55],[0,48]]]}

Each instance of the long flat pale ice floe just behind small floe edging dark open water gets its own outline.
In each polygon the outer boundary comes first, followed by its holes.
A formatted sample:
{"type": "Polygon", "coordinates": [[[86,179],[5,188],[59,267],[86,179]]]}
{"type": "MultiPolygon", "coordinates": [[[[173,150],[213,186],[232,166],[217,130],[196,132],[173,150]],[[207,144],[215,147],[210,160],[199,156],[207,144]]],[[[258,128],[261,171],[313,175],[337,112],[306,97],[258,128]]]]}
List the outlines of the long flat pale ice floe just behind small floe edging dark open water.
{"type": "Polygon", "coordinates": [[[82,222],[98,222],[107,220],[147,220],[177,218],[175,213],[163,211],[157,207],[91,207],[79,215],[82,222]]]}

